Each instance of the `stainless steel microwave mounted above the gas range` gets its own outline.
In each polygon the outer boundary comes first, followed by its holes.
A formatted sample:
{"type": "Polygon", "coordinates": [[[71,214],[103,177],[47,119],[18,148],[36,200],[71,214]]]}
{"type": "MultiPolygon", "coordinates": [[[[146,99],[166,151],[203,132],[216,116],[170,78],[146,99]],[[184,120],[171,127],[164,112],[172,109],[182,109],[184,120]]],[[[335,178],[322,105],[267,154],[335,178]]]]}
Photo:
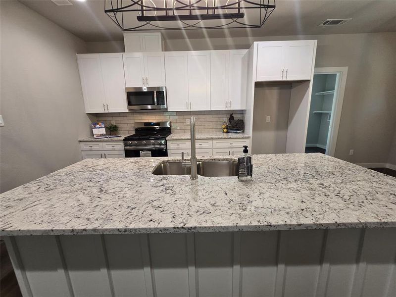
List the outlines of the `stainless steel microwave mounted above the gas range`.
{"type": "Polygon", "coordinates": [[[128,109],[166,110],[166,87],[125,88],[128,109]]]}

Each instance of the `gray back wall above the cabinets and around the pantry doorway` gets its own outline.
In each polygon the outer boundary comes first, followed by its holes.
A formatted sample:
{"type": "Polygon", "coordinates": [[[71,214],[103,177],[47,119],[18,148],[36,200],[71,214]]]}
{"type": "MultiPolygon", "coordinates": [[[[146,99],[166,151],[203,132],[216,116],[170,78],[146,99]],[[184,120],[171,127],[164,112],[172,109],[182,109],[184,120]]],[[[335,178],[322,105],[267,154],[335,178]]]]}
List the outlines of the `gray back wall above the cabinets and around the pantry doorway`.
{"type": "MultiPolygon", "coordinates": [[[[386,163],[396,131],[396,32],[168,40],[165,47],[248,49],[253,41],[297,39],[318,40],[315,67],[349,67],[335,156],[353,163],[386,163]],[[355,150],[352,156],[349,149],[355,150]]],[[[87,44],[95,52],[123,51],[122,42],[87,44]]]]}

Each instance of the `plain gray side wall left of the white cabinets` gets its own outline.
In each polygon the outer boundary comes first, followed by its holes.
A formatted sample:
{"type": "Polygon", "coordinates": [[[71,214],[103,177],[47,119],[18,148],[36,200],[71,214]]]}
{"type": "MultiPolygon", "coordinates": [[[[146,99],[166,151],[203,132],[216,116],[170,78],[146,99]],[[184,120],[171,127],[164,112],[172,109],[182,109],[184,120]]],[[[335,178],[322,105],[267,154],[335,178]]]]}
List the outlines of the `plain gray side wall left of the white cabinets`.
{"type": "Polygon", "coordinates": [[[81,160],[89,136],[76,52],[85,42],[18,1],[1,2],[1,192],[81,160]]]}

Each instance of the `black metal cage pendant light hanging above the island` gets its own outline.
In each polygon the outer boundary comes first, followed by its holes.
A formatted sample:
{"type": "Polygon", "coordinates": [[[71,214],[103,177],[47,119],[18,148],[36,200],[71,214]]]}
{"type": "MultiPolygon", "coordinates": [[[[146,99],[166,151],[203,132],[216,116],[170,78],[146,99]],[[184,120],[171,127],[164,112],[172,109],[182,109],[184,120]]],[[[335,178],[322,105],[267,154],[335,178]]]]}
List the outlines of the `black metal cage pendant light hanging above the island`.
{"type": "Polygon", "coordinates": [[[259,28],[275,0],[105,0],[123,31],[259,28]]]}

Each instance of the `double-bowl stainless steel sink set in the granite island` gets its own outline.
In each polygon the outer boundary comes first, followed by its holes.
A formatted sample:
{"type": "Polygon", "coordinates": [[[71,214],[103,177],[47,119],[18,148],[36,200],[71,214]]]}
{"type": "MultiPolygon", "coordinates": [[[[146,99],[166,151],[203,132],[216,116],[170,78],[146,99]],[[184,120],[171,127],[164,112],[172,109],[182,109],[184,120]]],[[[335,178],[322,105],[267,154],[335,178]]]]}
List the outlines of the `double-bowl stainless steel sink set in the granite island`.
{"type": "MultiPolygon", "coordinates": [[[[183,167],[182,162],[158,164],[153,170],[155,175],[190,174],[191,168],[183,167]]],[[[197,172],[200,176],[238,176],[237,161],[201,161],[197,162],[197,172]]]]}

